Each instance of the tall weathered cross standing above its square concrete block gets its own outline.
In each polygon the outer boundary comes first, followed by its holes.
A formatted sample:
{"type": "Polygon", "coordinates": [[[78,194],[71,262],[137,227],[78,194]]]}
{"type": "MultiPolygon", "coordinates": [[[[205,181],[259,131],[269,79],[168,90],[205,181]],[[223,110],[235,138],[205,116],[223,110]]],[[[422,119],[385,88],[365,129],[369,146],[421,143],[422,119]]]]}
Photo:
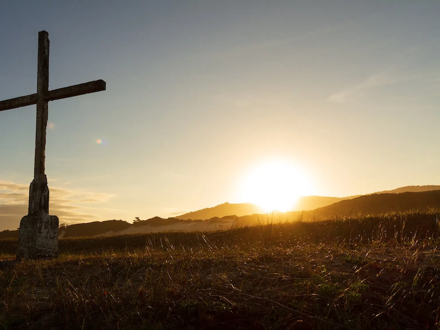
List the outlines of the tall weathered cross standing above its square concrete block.
{"type": "Polygon", "coordinates": [[[42,212],[49,213],[48,180],[44,174],[48,102],[104,91],[105,89],[106,82],[96,80],[49,91],[49,33],[46,31],[38,33],[37,93],[0,102],[0,111],[37,104],[35,163],[33,181],[29,188],[29,215],[37,215],[42,212]]]}

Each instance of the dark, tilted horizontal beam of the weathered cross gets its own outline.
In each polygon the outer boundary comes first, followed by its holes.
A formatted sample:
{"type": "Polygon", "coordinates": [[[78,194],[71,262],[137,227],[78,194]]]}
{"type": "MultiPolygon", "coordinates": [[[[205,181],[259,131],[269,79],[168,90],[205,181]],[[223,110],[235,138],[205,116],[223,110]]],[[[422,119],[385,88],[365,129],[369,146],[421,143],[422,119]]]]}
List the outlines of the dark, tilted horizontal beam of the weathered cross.
{"type": "MultiPolygon", "coordinates": [[[[77,84],[69,87],[58,88],[49,91],[44,97],[45,101],[54,101],[58,99],[65,99],[67,97],[84,95],[106,90],[106,82],[103,80],[89,81],[84,84],[77,84]]],[[[0,102],[0,111],[19,108],[21,106],[30,106],[36,104],[38,100],[37,93],[16,97],[15,99],[8,99],[0,102]]]]}

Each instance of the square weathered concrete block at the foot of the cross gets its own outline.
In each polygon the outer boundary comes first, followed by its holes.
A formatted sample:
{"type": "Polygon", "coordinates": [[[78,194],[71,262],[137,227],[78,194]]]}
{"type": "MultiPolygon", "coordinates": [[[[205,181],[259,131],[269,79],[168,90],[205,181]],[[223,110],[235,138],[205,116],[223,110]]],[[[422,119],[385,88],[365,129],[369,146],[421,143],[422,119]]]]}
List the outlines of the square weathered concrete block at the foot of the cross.
{"type": "Polygon", "coordinates": [[[58,257],[58,216],[41,212],[20,221],[17,260],[58,257]]]}

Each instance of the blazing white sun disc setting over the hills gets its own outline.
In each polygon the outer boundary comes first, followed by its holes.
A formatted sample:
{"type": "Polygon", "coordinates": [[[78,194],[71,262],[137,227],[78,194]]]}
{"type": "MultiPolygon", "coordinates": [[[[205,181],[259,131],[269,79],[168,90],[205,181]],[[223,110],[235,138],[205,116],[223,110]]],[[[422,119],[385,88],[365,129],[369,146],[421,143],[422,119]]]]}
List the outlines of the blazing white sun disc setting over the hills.
{"type": "Polygon", "coordinates": [[[310,194],[310,182],[286,161],[268,161],[248,172],[240,199],[264,211],[290,211],[300,196],[310,194]]]}

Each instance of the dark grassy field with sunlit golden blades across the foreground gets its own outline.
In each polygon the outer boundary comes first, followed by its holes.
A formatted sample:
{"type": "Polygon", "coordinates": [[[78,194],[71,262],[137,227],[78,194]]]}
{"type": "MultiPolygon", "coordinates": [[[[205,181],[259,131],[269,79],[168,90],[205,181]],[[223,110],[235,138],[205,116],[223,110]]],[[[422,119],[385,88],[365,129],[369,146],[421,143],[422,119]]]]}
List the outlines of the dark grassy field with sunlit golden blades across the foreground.
{"type": "Polygon", "coordinates": [[[439,237],[402,213],[61,239],[0,270],[0,329],[440,329],[439,237]]]}

